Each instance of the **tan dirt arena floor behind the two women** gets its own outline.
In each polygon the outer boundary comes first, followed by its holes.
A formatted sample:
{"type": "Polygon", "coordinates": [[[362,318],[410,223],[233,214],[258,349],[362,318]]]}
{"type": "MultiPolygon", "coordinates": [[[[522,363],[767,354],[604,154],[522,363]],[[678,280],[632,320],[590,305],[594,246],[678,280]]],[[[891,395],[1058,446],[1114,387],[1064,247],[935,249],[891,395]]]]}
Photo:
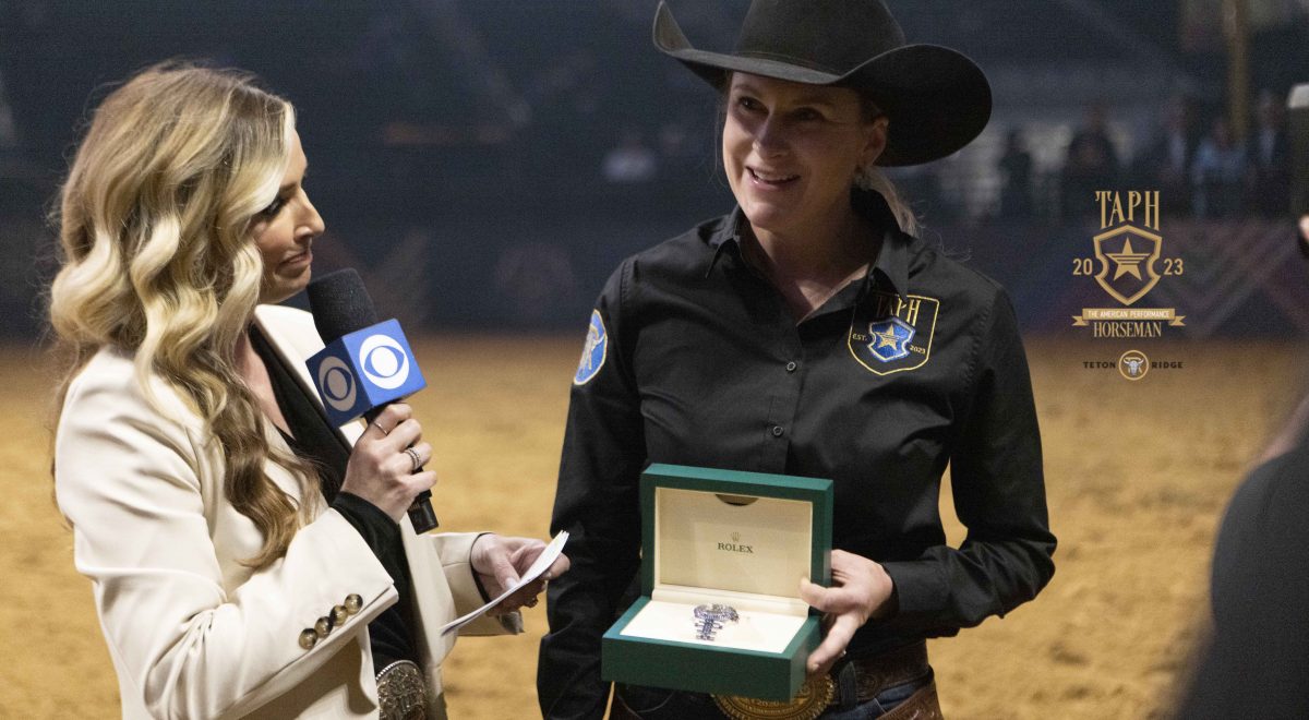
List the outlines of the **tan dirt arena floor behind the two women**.
{"type": "MultiPolygon", "coordinates": [[[[545,535],[576,338],[437,336],[415,398],[437,448],[444,528],[545,535]]],[[[1084,361],[1126,347],[1029,342],[1058,572],[1035,602],[931,644],[952,719],[1166,717],[1203,627],[1213,533],[1253,458],[1296,403],[1300,346],[1149,343],[1179,360],[1139,382],[1084,361]]],[[[117,685],[51,500],[43,356],[0,352],[0,717],[113,717],[117,685]]],[[[953,522],[950,539],[963,531],[953,522]]],[[[465,639],[449,660],[454,717],[538,715],[543,605],[518,638],[465,639]]]]}

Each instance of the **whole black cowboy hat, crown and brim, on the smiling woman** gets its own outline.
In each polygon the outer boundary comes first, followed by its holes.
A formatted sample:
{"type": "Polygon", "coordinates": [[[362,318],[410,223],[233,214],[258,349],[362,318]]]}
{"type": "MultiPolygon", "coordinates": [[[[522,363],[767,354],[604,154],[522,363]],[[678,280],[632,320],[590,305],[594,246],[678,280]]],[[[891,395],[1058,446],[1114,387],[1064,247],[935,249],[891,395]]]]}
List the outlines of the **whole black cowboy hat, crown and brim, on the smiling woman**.
{"type": "Polygon", "coordinates": [[[730,54],[691,47],[661,1],[654,46],[719,89],[736,71],[859,90],[890,119],[878,165],[945,157],[991,118],[982,69],[948,47],[907,45],[881,0],[753,0],[730,54]]]}

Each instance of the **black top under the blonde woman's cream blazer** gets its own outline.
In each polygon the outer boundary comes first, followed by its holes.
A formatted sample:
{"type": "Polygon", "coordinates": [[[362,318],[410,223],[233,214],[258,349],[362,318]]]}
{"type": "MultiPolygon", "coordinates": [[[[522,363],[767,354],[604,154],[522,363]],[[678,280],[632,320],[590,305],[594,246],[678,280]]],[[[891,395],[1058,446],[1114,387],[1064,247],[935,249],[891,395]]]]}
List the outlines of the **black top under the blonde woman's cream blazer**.
{"type": "MultiPolygon", "coordinates": [[[[278,408],[292,435],[281,433],[287,445],[297,457],[310,462],[318,471],[322,494],[327,503],[359,530],[373,550],[386,573],[395,584],[399,601],[368,623],[368,639],[373,651],[373,670],[380,672],[397,660],[418,662],[414,639],[410,632],[412,590],[410,589],[408,563],[404,558],[404,545],[401,541],[401,526],[387,517],[377,505],[368,500],[340,492],[350,462],[350,446],[331,427],[322,408],[305,394],[291,369],[272,350],[258,327],[250,327],[250,343],[268,368],[272,394],[278,408]]],[[[279,428],[278,432],[281,432],[279,428]]],[[[331,613],[323,609],[323,615],[331,613]]]]}

